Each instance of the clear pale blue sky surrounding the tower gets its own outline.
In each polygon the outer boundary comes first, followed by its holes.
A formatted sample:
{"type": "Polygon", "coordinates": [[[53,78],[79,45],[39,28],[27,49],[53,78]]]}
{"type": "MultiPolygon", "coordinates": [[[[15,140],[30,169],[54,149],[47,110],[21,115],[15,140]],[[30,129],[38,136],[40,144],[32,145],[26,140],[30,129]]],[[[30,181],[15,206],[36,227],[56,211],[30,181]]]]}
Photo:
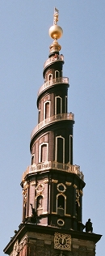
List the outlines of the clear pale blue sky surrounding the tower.
{"type": "Polygon", "coordinates": [[[81,166],[86,187],[82,221],[105,236],[105,2],[103,0],[0,2],[0,202],[2,250],[22,220],[23,172],[31,164],[30,134],[37,125],[36,98],[52,39],[54,6],[60,12],[59,40],[69,77],[69,112],[74,113],[73,164],[81,166]]]}

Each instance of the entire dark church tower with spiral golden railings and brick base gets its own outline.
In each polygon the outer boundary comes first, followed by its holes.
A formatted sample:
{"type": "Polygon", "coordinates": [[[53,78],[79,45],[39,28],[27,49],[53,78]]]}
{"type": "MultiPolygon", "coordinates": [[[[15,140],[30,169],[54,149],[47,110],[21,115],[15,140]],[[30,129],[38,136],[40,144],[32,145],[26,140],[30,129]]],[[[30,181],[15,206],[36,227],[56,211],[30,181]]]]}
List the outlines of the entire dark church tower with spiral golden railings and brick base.
{"type": "Polygon", "coordinates": [[[101,235],[90,219],[82,224],[85,186],[80,167],[73,164],[74,115],[68,113],[69,78],[58,39],[55,8],[49,35],[54,40],[44,62],[44,84],[37,96],[38,124],[31,132],[31,165],[23,173],[23,219],[6,245],[10,256],[94,256],[101,235]],[[86,228],[86,231],[84,231],[86,228]]]}

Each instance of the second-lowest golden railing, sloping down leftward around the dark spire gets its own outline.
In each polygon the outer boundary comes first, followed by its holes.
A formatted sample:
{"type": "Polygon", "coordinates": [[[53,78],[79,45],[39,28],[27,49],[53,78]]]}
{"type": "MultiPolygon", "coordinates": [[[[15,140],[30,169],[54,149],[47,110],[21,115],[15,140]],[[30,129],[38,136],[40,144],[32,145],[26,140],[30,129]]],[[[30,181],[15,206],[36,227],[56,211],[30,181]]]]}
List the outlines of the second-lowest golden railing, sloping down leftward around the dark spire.
{"type": "Polygon", "coordinates": [[[38,130],[42,129],[44,126],[47,126],[48,124],[51,124],[53,122],[62,121],[62,120],[73,120],[73,119],[74,119],[73,113],[58,113],[55,116],[48,117],[48,118],[44,119],[44,121],[40,122],[34,128],[34,130],[32,130],[32,132],[31,132],[31,139],[34,136],[34,134],[36,134],[36,132],[38,130]]]}

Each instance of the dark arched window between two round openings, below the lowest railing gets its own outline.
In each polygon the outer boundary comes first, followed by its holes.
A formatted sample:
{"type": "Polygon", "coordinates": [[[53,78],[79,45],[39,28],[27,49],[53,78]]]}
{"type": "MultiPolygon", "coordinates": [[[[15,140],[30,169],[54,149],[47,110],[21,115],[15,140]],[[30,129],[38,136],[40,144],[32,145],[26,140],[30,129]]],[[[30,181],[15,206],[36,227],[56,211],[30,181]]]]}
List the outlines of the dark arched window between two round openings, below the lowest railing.
{"type": "Polygon", "coordinates": [[[65,215],[65,195],[57,194],[57,214],[65,215]]]}

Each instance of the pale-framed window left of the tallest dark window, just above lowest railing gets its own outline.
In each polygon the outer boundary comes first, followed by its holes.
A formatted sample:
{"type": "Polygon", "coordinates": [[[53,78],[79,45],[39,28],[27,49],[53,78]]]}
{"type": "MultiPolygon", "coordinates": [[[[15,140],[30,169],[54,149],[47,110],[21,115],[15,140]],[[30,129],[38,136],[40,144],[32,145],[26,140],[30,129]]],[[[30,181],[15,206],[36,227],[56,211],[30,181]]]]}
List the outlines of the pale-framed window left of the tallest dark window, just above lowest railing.
{"type": "Polygon", "coordinates": [[[40,144],[39,162],[48,161],[48,143],[40,144]]]}

